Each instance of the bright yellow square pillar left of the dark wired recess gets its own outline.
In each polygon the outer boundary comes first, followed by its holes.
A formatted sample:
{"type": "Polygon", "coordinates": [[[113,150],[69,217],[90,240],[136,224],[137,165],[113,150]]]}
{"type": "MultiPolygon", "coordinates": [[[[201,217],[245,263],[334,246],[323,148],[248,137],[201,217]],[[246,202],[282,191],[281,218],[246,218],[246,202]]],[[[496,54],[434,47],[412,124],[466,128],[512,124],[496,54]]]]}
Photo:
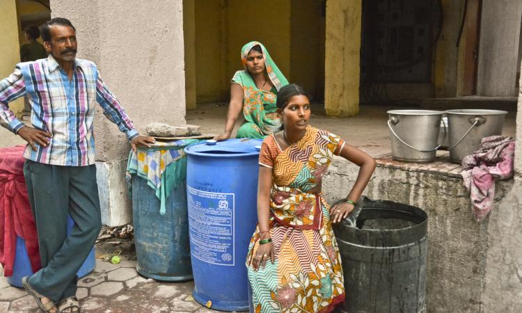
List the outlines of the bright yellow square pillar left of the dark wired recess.
{"type": "Polygon", "coordinates": [[[326,2],[324,107],[331,116],[359,111],[362,0],[326,2]]]}

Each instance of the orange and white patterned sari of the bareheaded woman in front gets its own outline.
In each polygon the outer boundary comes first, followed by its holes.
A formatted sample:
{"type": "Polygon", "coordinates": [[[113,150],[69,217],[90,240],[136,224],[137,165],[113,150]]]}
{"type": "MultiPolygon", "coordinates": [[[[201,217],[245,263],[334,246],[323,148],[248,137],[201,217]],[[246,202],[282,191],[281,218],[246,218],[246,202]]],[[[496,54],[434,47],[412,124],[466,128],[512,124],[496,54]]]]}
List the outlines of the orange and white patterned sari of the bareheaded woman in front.
{"type": "Polygon", "coordinates": [[[322,175],[345,144],[328,131],[308,127],[284,151],[274,138],[262,143],[260,165],[272,168],[270,234],[275,262],[253,270],[259,228],[246,266],[255,312],[331,312],[345,300],[339,248],[322,198],[322,175]]]}

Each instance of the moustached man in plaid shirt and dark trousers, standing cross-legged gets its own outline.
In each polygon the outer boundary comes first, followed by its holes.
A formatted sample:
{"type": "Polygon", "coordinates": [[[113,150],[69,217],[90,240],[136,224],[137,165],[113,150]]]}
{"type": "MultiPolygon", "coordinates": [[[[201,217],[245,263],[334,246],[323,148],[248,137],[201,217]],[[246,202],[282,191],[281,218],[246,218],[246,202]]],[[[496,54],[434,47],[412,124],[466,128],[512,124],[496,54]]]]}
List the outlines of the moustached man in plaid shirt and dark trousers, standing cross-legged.
{"type": "Polygon", "coordinates": [[[42,269],[22,280],[45,312],[77,312],[77,271],[100,232],[93,120],[95,106],[118,125],[132,149],[150,147],[100,77],[94,63],[76,58],[76,30],[68,19],[42,26],[48,58],[19,63],[0,81],[1,125],[24,138],[24,175],[35,216],[42,269]],[[31,126],[8,103],[26,95],[31,126]],[[74,220],[66,234],[68,214],[74,220]]]}

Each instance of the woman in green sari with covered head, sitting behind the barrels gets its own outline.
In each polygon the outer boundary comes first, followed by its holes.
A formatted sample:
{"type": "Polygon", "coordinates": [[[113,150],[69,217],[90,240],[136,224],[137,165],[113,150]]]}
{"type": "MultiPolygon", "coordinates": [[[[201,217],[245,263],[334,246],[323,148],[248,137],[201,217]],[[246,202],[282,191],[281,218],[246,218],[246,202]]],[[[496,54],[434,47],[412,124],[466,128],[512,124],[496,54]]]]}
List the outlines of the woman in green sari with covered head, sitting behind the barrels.
{"type": "Polygon", "coordinates": [[[288,84],[287,79],[261,42],[244,45],[241,60],[245,69],[232,77],[225,132],[216,136],[216,141],[230,138],[241,111],[245,122],[236,138],[266,138],[281,129],[276,99],[279,89],[288,84]]]}

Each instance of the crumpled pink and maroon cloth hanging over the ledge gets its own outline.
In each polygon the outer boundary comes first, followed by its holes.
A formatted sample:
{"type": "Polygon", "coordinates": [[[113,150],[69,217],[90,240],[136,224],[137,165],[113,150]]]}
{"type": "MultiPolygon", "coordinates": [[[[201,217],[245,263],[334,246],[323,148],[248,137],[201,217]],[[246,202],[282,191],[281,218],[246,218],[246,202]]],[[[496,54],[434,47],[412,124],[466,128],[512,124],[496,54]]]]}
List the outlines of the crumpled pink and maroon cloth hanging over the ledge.
{"type": "Polygon", "coordinates": [[[482,138],[479,150],[464,157],[461,172],[464,186],[470,191],[475,219],[480,222],[491,211],[495,198],[495,181],[513,177],[515,141],[512,137],[482,138]]]}

